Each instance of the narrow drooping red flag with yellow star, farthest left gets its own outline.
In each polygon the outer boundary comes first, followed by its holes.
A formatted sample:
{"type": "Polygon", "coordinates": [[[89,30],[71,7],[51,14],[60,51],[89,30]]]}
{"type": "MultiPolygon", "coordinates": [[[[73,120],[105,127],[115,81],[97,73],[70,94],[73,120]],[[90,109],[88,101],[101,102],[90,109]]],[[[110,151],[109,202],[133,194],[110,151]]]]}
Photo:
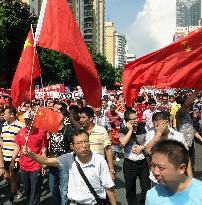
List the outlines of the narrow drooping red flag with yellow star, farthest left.
{"type": "Polygon", "coordinates": [[[11,97],[13,105],[16,107],[21,105],[22,102],[30,99],[30,86],[32,85],[31,91],[33,92],[34,79],[39,77],[41,73],[38,55],[35,53],[34,56],[36,49],[33,45],[34,39],[32,31],[30,30],[11,85],[11,97]]]}

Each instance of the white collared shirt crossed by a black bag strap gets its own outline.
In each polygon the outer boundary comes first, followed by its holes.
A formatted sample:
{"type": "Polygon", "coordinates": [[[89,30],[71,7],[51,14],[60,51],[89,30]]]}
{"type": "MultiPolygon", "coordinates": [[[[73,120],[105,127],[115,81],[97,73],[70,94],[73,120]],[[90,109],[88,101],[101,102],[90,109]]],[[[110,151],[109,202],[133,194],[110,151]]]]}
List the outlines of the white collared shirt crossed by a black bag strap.
{"type": "MultiPolygon", "coordinates": [[[[57,159],[61,168],[69,169],[68,198],[81,204],[96,204],[94,196],[89,191],[77,169],[73,153],[64,154],[57,159]]],[[[91,160],[86,164],[82,164],[77,156],[75,159],[80,164],[96,193],[100,198],[105,199],[105,190],[114,186],[105,159],[96,153],[92,153],[91,160]]]]}

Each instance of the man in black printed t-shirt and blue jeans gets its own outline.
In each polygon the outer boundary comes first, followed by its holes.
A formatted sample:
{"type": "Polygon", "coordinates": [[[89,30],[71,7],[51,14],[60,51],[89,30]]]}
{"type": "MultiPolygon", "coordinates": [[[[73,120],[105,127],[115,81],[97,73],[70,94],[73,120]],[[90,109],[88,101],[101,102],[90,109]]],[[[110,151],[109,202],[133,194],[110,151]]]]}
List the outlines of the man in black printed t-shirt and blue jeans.
{"type": "MultiPolygon", "coordinates": [[[[49,157],[59,157],[70,152],[69,134],[74,129],[68,118],[67,107],[63,103],[57,103],[57,111],[62,113],[63,120],[57,134],[49,134],[49,157]]],[[[49,167],[49,187],[55,202],[58,205],[68,204],[69,172],[58,167],[49,167]]]]}

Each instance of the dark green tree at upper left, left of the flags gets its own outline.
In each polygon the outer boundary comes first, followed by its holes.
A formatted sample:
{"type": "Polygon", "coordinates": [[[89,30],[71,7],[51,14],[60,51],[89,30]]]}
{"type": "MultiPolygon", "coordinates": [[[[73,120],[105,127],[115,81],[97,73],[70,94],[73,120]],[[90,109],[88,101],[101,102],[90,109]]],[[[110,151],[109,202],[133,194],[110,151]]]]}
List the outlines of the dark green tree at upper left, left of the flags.
{"type": "Polygon", "coordinates": [[[34,18],[20,0],[0,0],[0,61],[10,83],[34,18]]]}

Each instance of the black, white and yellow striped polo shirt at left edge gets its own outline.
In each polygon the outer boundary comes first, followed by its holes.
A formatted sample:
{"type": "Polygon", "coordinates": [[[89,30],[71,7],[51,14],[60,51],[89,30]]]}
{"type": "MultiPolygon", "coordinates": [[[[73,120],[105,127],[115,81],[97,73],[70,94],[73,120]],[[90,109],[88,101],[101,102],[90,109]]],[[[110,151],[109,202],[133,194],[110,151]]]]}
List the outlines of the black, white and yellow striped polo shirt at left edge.
{"type": "MultiPolygon", "coordinates": [[[[15,122],[8,124],[5,122],[2,127],[1,138],[3,140],[3,156],[4,161],[11,161],[13,150],[15,148],[15,138],[19,130],[24,127],[25,124],[16,120],[15,122]]],[[[19,161],[19,157],[16,158],[19,161]]]]}

